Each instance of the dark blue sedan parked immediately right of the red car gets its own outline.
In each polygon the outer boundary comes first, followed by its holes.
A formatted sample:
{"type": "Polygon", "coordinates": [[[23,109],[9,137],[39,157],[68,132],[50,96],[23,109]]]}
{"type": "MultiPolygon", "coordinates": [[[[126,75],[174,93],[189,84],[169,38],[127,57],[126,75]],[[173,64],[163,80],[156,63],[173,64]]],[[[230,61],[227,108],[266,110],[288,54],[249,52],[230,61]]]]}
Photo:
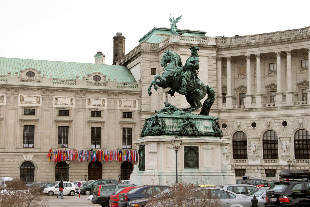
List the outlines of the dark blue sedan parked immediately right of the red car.
{"type": "Polygon", "coordinates": [[[156,195],[157,193],[160,193],[163,190],[166,190],[167,188],[170,188],[170,186],[155,185],[136,187],[135,189],[132,189],[127,193],[121,193],[119,195],[119,201],[117,202],[117,204],[119,207],[126,207],[127,203],[131,200],[151,197],[156,195]]]}

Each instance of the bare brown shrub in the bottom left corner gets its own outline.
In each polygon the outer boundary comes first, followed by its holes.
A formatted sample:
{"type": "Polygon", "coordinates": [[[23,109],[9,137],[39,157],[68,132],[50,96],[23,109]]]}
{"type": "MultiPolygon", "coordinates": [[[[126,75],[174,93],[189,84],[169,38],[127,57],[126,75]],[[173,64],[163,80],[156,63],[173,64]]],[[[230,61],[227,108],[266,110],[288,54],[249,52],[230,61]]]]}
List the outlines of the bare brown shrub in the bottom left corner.
{"type": "Polygon", "coordinates": [[[25,184],[18,179],[14,179],[13,182],[7,184],[6,189],[0,191],[0,207],[46,207],[48,200],[47,196],[31,193],[30,190],[26,189],[25,184]]]}

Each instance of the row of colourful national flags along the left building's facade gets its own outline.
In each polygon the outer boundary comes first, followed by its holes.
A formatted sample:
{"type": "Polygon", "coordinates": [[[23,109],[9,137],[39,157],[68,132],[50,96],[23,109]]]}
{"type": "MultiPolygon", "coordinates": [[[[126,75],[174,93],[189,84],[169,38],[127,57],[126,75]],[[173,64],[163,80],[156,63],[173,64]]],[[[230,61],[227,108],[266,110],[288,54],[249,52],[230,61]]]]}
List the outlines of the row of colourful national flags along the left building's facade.
{"type": "Polygon", "coordinates": [[[138,161],[137,150],[117,150],[117,149],[105,149],[105,150],[58,150],[50,149],[47,155],[48,161],[60,162],[69,158],[71,161],[138,161]]]}

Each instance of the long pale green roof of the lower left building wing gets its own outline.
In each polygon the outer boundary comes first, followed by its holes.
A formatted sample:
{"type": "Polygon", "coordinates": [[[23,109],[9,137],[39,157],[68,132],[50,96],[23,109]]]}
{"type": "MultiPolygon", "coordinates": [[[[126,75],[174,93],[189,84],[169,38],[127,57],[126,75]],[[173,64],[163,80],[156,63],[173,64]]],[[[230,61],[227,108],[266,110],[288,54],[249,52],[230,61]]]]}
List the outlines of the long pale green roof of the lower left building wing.
{"type": "Polygon", "coordinates": [[[87,77],[87,74],[97,71],[106,75],[106,78],[110,77],[110,81],[117,78],[117,82],[136,83],[134,76],[125,66],[0,57],[1,76],[7,76],[8,71],[11,71],[11,75],[16,71],[20,75],[20,70],[26,67],[36,68],[41,71],[41,77],[45,73],[47,78],[52,74],[53,78],[76,79],[76,76],[79,76],[82,80],[83,76],[87,77]]]}

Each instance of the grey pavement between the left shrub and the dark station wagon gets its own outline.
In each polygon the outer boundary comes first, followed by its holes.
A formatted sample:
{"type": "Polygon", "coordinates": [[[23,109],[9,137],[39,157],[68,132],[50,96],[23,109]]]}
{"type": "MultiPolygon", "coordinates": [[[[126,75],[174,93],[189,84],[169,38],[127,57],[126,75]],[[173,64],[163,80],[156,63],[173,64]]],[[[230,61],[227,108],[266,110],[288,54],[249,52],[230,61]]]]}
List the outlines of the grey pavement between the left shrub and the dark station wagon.
{"type": "MultiPolygon", "coordinates": [[[[44,195],[46,196],[46,195],[44,195]]],[[[80,195],[81,199],[78,199],[78,194],[74,196],[64,195],[64,199],[60,199],[60,196],[56,197],[56,195],[49,197],[49,205],[51,207],[60,207],[60,206],[92,206],[92,207],[101,207],[97,204],[92,204],[91,200],[88,200],[89,195],[80,195]]]]}

